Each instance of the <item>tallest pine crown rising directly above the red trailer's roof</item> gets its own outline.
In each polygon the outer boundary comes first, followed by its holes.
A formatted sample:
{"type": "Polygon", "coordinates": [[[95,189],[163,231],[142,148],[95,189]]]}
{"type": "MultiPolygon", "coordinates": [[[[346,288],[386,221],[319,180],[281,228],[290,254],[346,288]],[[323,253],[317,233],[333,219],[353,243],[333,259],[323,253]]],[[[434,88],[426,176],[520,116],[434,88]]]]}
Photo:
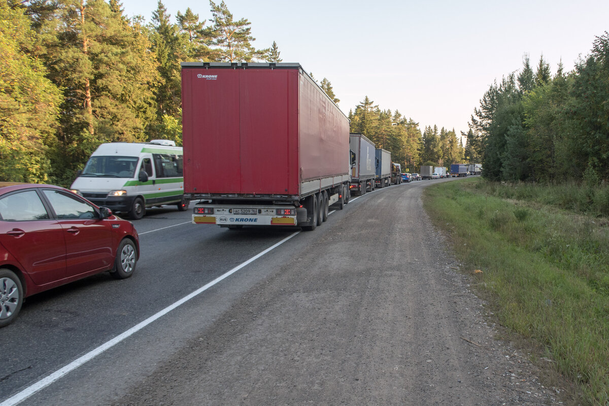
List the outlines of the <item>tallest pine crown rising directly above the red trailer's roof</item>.
{"type": "Polygon", "coordinates": [[[224,0],[216,5],[209,0],[211,5],[211,23],[206,32],[212,38],[211,44],[216,46],[217,60],[226,62],[251,62],[256,59],[264,59],[270,49],[255,49],[252,42],[251,23],[247,18],[234,21],[233,14],[228,10],[224,0]]]}

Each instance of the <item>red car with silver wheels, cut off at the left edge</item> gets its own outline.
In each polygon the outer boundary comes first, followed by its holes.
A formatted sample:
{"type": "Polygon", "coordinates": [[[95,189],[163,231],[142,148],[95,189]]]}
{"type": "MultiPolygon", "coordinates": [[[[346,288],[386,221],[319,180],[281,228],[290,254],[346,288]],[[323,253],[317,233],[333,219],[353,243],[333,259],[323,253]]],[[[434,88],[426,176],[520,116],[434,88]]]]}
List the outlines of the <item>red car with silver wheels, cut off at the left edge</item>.
{"type": "Polygon", "coordinates": [[[0,182],[0,327],[24,298],[104,271],[133,275],[139,237],[133,224],[48,184],[0,182]]]}

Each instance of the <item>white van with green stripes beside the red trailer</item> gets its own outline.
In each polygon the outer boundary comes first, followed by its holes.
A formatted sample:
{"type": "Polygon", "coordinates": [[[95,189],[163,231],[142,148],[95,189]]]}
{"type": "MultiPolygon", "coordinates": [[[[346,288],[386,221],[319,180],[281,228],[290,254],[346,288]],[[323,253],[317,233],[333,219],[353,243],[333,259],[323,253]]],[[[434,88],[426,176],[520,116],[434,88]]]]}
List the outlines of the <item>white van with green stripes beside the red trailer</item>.
{"type": "Polygon", "coordinates": [[[147,207],[188,209],[183,168],[182,148],[173,141],[109,142],[97,147],[71,189],[97,206],[139,220],[147,207]]]}

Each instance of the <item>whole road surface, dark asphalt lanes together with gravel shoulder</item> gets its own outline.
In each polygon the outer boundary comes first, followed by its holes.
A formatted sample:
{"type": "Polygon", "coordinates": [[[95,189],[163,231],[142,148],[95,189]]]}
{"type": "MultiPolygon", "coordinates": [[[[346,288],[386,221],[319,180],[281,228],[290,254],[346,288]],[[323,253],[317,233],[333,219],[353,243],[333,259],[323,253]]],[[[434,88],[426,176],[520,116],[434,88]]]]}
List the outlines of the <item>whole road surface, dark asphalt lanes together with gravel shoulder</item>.
{"type": "Polygon", "coordinates": [[[424,214],[435,182],[377,189],[303,233],[150,210],[132,278],[29,298],[0,331],[0,405],[544,404],[531,368],[533,386],[515,387],[518,368],[424,214]]]}

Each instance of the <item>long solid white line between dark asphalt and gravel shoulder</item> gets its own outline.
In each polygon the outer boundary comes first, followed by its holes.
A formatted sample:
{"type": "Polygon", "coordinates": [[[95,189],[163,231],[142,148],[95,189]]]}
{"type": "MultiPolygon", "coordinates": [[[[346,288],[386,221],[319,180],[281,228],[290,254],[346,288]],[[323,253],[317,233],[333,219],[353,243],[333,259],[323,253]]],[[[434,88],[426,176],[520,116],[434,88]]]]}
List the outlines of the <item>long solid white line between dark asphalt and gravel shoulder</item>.
{"type": "MultiPolygon", "coordinates": [[[[150,233],[150,231],[147,231],[147,233],[150,233]]],[[[214,279],[213,281],[209,282],[206,285],[203,285],[199,289],[192,292],[190,295],[181,298],[180,300],[178,300],[171,306],[166,307],[165,309],[161,310],[157,314],[150,316],[149,318],[147,318],[146,320],[142,321],[139,324],[136,324],[135,326],[131,327],[124,333],[117,335],[110,341],[106,341],[104,344],[100,345],[96,349],[93,349],[92,351],[87,352],[85,355],[83,355],[79,359],[72,361],[71,363],[64,366],[63,368],[58,369],[57,371],[50,374],[49,376],[44,377],[43,379],[39,380],[38,382],[34,383],[33,385],[30,385],[30,387],[27,387],[26,389],[19,392],[18,394],[15,394],[14,396],[9,397],[9,399],[6,399],[4,402],[0,403],[0,406],[13,406],[13,405],[19,404],[20,402],[23,402],[25,399],[32,396],[37,391],[39,391],[45,387],[48,387],[49,385],[51,385],[51,383],[60,379],[64,375],[70,373],[71,371],[74,371],[74,369],[78,368],[80,365],[83,365],[84,363],[92,360],[94,357],[96,357],[97,355],[106,351],[108,348],[111,348],[112,346],[120,343],[122,340],[125,340],[125,338],[130,337],[130,335],[135,334],[136,332],[138,332],[141,329],[143,329],[144,327],[146,327],[148,324],[152,323],[153,321],[157,320],[160,317],[163,317],[167,313],[171,312],[171,310],[174,310],[176,307],[181,306],[181,304],[186,303],[190,299],[194,298],[195,296],[197,296],[200,293],[204,292],[205,290],[209,289],[213,285],[222,281],[222,279],[228,278],[228,276],[233,275],[233,273],[235,273],[236,271],[238,271],[241,268],[245,267],[246,265],[252,263],[253,261],[256,261],[256,259],[258,259],[259,257],[263,256],[264,254],[269,253],[269,251],[274,250],[275,248],[279,247],[281,244],[283,244],[290,238],[297,236],[300,233],[301,233],[301,231],[296,231],[295,233],[290,234],[290,236],[284,238],[283,240],[276,243],[275,245],[272,245],[272,247],[267,248],[266,250],[262,251],[258,255],[251,257],[250,259],[248,259],[247,261],[243,262],[240,265],[237,265],[236,267],[234,267],[233,269],[231,269],[224,275],[219,276],[218,278],[214,279]]]]}

